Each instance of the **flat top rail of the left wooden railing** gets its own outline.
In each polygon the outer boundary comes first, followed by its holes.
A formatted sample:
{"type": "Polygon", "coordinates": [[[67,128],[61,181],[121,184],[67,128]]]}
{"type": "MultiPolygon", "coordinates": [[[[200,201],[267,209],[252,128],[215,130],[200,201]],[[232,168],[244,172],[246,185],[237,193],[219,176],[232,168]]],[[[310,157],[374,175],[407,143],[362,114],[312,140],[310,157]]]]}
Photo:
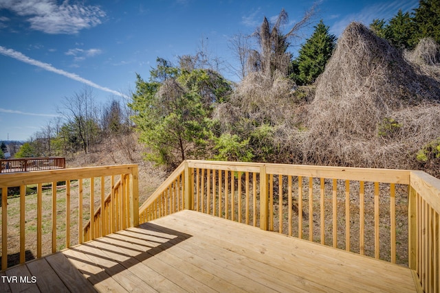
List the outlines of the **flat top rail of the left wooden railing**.
{"type": "Polygon", "coordinates": [[[0,188],[63,181],[71,178],[84,179],[100,176],[130,174],[133,168],[137,168],[137,164],[75,167],[67,169],[6,173],[0,174],[0,188]]]}

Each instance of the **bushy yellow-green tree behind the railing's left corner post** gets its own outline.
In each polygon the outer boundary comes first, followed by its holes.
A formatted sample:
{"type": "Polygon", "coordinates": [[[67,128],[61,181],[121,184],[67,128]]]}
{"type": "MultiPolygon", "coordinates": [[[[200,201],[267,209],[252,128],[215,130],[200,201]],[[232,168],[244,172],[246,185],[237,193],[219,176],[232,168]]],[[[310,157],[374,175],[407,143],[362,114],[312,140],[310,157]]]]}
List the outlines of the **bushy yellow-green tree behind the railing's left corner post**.
{"type": "Polygon", "coordinates": [[[147,159],[175,167],[188,157],[206,156],[212,137],[214,105],[228,99],[231,87],[215,71],[172,67],[158,58],[150,82],[137,75],[129,107],[140,140],[150,148],[147,159]]]}

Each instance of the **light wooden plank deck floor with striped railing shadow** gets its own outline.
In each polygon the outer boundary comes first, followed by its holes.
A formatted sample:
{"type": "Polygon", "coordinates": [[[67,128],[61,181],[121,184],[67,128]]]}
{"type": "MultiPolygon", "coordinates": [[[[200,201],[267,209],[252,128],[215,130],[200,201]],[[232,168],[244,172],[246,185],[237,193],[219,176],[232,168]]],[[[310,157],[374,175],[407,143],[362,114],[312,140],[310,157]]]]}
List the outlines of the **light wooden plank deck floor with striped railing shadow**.
{"type": "Polygon", "coordinates": [[[0,292],[417,289],[407,268],[196,211],[180,211],[10,268],[0,276],[0,292]],[[28,276],[29,283],[5,283],[4,276],[28,276]]]}

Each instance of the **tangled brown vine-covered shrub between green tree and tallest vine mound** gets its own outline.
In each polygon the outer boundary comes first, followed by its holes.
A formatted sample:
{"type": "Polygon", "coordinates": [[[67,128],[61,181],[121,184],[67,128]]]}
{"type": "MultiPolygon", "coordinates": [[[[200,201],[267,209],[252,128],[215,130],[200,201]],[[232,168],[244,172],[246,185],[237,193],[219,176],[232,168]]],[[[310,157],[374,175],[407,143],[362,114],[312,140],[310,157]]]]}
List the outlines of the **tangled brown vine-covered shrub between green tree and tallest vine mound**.
{"type": "Polygon", "coordinates": [[[270,134],[252,145],[256,155],[254,159],[293,163],[293,154],[300,153],[300,120],[296,115],[294,86],[294,82],[280,71],[275,71],[272,77],[261,72],[249,73],[237,86],[230,102],[219,104],[214,112],[221,133],[238,134],[247,139],[252,133],[258,137],[256,132],[262,126],[270,126],[270,134]],[[275,153],[265,156],[261,149],[266,147],[273,148],[275,153]]]}

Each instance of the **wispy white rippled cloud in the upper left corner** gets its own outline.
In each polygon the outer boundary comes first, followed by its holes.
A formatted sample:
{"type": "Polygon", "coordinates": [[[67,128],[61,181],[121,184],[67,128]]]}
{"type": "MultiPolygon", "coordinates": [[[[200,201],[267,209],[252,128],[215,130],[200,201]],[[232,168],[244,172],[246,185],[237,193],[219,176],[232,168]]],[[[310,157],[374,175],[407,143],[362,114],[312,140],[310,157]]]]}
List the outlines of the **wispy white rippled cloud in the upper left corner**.
{"type": "Polygon", "coordinates": [[[2,0],[0,9],[24,16],[33,30],[47,34],[76,34],[99,25],[106,16],[98,6],[68,0],[61,4],[56,0],[2,0]]]}

